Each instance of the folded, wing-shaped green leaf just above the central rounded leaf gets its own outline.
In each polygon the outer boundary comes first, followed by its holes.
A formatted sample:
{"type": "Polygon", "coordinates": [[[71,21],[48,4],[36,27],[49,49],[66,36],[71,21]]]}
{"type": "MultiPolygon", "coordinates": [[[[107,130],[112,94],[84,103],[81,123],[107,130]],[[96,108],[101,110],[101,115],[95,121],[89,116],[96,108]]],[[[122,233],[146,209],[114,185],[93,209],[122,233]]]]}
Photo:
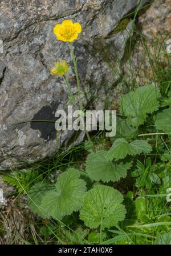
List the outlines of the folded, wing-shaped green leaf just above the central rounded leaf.
{"type": "Polygon", "coordinates": [[[147,141],[137,139],[131,143],[128,143],[124,138],[117,139],[111,149],[107,153],[107,159],[116,160],[124,159],[127,155],[137,155],[141,153],[148,154],[152,151],[152,147],[147,141]]]}

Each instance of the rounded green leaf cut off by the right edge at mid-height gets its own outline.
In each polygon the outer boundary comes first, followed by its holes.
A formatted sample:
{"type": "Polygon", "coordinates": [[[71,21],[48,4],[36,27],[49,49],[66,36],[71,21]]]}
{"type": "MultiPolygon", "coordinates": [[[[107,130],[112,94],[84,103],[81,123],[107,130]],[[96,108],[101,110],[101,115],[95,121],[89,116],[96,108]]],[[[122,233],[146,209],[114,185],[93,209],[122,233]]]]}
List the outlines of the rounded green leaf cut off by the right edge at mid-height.
{"type": "Polygon", "coordinates": [[[156,128],[163,130],[165,133],[171,133],[171,107],[162,110],[161,113],[156,115],[156,128]]]}

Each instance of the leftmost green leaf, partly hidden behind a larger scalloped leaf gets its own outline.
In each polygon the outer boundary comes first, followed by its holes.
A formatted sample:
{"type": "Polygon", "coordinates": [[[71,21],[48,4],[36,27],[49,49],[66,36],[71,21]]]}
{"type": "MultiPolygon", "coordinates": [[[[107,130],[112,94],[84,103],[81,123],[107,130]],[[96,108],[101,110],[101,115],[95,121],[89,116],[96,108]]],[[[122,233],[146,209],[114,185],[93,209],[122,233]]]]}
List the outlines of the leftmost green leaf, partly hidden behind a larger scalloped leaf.
{"type": "Polygon", "coordinates": [[[39,182],[32,186],[28,192],[28,206],[33,213],[38,214],[42,218],[47,218],[46,210],[42,209],[41,203],[44,194],[49,190],[54,190],[53,184],[39,182]]]}

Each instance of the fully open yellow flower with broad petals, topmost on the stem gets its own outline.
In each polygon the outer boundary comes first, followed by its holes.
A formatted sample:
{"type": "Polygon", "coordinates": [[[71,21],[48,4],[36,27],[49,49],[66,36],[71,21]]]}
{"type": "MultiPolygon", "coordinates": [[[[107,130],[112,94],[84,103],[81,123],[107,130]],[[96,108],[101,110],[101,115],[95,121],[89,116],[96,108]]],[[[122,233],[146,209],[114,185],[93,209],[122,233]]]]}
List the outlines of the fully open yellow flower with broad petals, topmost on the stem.
{"type": "Polygon", "coordinates": [[[58,40],[64,42],[72,42],[78,38],[78,34],[82,32],[80,23],[73,23],[70,19],[63,21],[62,24],[57,24],[54,27],[54,34],[58,40]]]}

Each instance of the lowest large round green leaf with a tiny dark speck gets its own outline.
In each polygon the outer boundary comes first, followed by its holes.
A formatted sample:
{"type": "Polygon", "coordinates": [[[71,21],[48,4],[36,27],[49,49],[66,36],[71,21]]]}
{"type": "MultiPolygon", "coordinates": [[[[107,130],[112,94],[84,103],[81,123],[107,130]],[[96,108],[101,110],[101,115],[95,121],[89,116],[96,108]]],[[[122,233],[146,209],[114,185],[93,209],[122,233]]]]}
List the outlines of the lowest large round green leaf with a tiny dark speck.
{"type": "Polygon", "coordinates": [[[116,226],[125,218],[123,195],[113,187],[97,185],[86,193],[80,219],[91,229],[116,226]]]}

